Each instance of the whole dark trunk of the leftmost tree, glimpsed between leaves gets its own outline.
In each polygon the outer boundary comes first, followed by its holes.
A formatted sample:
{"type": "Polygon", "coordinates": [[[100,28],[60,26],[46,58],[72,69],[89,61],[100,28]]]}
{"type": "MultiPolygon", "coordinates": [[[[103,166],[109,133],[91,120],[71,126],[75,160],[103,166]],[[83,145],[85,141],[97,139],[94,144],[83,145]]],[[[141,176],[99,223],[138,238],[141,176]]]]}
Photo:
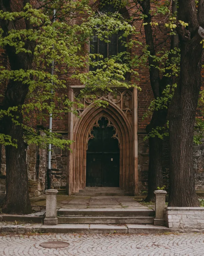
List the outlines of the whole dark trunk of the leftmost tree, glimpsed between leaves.
{"type": "MultiPolygon", "coordinates": [[[[29,1],[22,1],[26,4],[29,1]]],[[[0,9],[4,12],[11,12],[11,1],[0,1],[0,9]]],[[[23,21],[22,21],[23,23],[23,21]]],[[[30,29],[28,20],[24,25],[30,29]]],[[[0,26],[3,29],[3,36],[6,37],[11,29],[18,30],[15,21],[0,20],[0,26]]],[[[22,25],[23,26],[23,25],[22,25]]],[[[26,41],[25,47],[33,52],[35,44],[26,41]]],[[[10,62],[11,70],[29,70],[32,69],[33,54],[32,53],[18,53],[14,46],[5,46],[8,60],[10,62]]],[[[22,82],[9,80],[6,88],[3,110],[9,107],[18,106],[19,110],[21,105],[25,102],[28,94],[29,85],[22,82]]],[[[17,120],[19,124],[23,123],[23,115],[20,111],[12,112],[13,119],[17,120]]],[[[23,140],[23,127],[22,125],[15,125],[11,116],[4,116],[0,124],[1,132],[12,137],[16,140],[17,148],[14,146],[5,146],[6,150],[6,195],[1,210],[4,213],[30,213],[31,204],[28,193],[28,168],[26,161],[26,144],[23,140]]],[[[15,142],[15,141],[14,141],[15,142]]]]}

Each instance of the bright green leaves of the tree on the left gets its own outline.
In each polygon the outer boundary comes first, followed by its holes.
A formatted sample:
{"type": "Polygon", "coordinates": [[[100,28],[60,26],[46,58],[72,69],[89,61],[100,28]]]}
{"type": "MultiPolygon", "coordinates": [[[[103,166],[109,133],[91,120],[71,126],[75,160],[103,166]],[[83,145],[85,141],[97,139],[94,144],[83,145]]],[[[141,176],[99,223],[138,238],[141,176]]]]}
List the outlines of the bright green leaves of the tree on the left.
{"type": "MultiPolygon", "coordinates": [[[[108,37],[124,31],[127,37],[134,33],[134,28],[119,13],[96,13],[88,1],[39,1],[41,7],[34,8],[27,3],[19,12],[0,11],[0,19],[8,23],[20,23],[18,29],[8,26],[8,31],[0,29],[0,47],[12,47],[16,56],[29,55],[32,66],[27,69],[5,69],[0,67],[0,81],[15,81],[28,88],[26,99],[21,104],[8,106],[0,110],[0,119],[4,116],[12,118],[15,125],[24,129],[24,141],[46,147],[52,143],[57,147],[68,147],[72,141],[63,140],[59,134],[49,129],[35,129],[33,122],[43,124],[50,115],[62,118],[62,114],[73,112],[80,103],[68,98],[68,81],[80,81],[85,86],[78,97],[90,97],[95,105],[105,106],[107,102],[96,101],[90,96],[92,91],[113,91],[113,87],[137,87],[125,81],[125,74],[132,72],[127,61],[121,61],[122,54],[100,60],[97,55],[87,51],[88,40],[93,34],[108,41],[108,37]],[[55,17],[53,10],[56,9],[55,17]],[[77,16],[81,22],[73,22],[77,16]],[[85,47],[86,46],[86,47],[85,47]],[[54,60],[54,66],[53,65],[54,60]],[[88,66],[100,66],[96,71],[88,71],[88,66]],[[54,74],[51,70],[54,68],[54,74]],[[23,122],[19,118],[23,115],[23,122]],[[42,131],[43,133],[40,133],[42,131]],[[43,136],[41,135],[43,134],[43,136]]],[[[120,3],[122,4],[122,2],[120,3]]],[[[131,42],[123,42],[131,47],[131,42]]],[[[13,58],[13,56],[12,56],[13,58]]],[[[126,55],[127,59],[130,56],[126,55]]],[[[0,143],[17,146],[16,141],[8,134],[0,134],[0,143]]]]}

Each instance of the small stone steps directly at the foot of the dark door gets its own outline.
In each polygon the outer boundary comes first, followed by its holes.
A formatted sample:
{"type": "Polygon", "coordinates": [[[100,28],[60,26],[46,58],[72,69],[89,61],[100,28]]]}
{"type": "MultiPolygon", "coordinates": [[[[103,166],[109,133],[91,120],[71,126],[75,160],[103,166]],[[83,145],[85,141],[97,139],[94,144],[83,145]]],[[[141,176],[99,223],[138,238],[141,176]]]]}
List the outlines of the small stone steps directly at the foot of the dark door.
{"type": "Polygon", "coordinates": [[[75,196],[130,196],[120,187],[85,187],[74,193],[75,196]]]}

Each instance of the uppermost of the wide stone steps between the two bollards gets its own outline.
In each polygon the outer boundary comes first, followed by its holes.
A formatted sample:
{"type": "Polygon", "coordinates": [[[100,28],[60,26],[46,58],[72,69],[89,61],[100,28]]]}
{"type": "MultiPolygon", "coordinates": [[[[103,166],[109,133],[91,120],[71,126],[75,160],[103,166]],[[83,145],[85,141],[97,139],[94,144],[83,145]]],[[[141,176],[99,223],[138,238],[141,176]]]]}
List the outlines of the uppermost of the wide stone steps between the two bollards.
{"type": "Polygon", "coordinates": [[[151,209],[59,209],[58,216],[62,217],[153,217],[151,209]]]}

